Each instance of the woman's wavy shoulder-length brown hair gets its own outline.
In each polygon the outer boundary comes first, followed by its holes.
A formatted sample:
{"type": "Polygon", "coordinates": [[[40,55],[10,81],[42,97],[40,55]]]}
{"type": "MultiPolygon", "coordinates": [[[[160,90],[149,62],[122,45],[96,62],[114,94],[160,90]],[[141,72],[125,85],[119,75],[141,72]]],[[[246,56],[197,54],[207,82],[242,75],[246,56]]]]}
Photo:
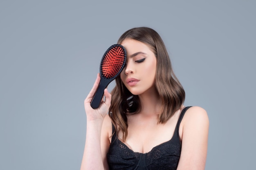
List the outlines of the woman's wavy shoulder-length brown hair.
{"type": "MultiPolygon", "coordinates": [[[[173,114],[180,109],[184,100],[185,92],[173,73],[171,60],[159,34],[151,28],[138,27],[126,31],[118,40],[121,44],[125,39],[135,39],[146,44],[157,58],[157,69],[155,75],[155,87],[160,99],[162,109],[158,116],[158,123],[166,123],[173,114]]],[[[128,135],[127,115],[135,114],[141,110],[139,97],[133,95],[122,83],[120,76],[116,78],[116,86],[111,92],[112,100],[110,106],[110,118],[115,130],[121,130],[123,140],[128,135]]]]}

